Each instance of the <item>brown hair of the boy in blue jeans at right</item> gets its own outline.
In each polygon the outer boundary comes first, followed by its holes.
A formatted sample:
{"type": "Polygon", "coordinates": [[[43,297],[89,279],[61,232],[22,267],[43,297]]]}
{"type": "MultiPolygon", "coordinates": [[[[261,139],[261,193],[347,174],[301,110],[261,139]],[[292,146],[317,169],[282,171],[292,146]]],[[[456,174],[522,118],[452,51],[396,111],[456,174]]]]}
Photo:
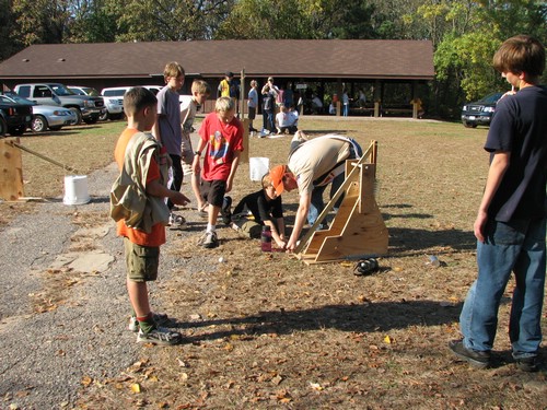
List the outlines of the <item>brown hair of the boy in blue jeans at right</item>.
{"type": "Polygon", "coordinates": [[[503,42],[493,56],[499,72],[525,72],[539,77],[545,70],[545,47],[534,37],[521,34],[503,42]]]}

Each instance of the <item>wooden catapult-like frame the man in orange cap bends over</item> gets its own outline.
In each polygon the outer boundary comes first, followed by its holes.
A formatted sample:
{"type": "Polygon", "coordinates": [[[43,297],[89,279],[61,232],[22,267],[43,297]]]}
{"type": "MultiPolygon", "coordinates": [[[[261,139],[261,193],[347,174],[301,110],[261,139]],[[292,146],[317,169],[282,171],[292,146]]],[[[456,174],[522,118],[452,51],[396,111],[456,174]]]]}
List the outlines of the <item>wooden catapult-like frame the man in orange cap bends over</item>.
{"type": "Polygon", "coordinates": [[[295,249],[305,263],[359,259],[387,253],[387,229],[374,198],[377,142],[359,160],[346,162],[346,180],[295,249]],[[315,231],[336,200],[344,201],[330,227],[315,231]]]}

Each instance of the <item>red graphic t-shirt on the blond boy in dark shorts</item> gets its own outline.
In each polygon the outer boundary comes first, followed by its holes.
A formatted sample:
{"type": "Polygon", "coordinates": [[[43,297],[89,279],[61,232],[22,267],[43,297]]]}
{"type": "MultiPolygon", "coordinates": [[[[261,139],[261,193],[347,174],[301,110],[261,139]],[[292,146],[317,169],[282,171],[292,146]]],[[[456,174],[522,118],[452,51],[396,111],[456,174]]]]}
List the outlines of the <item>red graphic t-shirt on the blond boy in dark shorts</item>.
{"type": "Polygon", "coordinates": [[[199,136],[208,142],[203,155],[201,177],[206,180],[228,180],[235,151],[243,151],[243,126],[234,117],[229,124],[222,122],[217,113],[203,119],[199,136]]]}

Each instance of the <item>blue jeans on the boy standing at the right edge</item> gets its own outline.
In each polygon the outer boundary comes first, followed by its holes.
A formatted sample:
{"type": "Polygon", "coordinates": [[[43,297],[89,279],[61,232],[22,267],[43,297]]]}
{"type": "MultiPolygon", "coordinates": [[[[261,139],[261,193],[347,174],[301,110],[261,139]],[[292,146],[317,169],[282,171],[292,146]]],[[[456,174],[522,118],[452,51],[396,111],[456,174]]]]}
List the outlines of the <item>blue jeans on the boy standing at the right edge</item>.
{"type": "Polygon", "coordinates": [[[545,291],[545,219],[488,222],[486,243],[477,245],[478,278],[459,315],[466,348],[492,349],[498,308],[513,271],[516,285],[509,324],[513,358],[537,354],[545,291]]]}

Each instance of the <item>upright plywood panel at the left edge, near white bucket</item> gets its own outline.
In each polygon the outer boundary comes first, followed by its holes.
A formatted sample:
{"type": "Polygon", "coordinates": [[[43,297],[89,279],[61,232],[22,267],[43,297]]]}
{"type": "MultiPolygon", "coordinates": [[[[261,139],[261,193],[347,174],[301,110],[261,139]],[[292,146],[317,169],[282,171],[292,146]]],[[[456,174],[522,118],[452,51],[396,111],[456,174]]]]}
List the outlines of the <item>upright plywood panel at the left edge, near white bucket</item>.
{"type": "Polygon", "coordinates": [[[14,201],[24,197],[23,159],[21,151],[12,142],[19,143],[19,138],[0,139],[0,198],[14,201]]]}

